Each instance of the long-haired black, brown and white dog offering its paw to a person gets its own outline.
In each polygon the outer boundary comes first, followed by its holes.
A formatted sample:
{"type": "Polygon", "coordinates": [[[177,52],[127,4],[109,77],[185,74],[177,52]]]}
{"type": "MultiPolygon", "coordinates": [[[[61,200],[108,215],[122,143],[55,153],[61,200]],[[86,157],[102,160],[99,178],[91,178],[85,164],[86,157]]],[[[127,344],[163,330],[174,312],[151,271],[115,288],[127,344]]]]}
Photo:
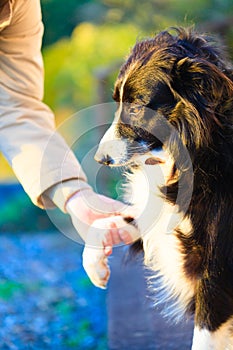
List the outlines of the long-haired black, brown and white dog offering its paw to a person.
{"type": "Polygon", "coordinates": [[[137,42],[95,156],[122,167],[140,210],[125,219],[141,233],[132,249],[173,300],[171,318],[193,315],[192,350],[233,349],[232,78],[221,45],[193,29],[137,42]]]}

